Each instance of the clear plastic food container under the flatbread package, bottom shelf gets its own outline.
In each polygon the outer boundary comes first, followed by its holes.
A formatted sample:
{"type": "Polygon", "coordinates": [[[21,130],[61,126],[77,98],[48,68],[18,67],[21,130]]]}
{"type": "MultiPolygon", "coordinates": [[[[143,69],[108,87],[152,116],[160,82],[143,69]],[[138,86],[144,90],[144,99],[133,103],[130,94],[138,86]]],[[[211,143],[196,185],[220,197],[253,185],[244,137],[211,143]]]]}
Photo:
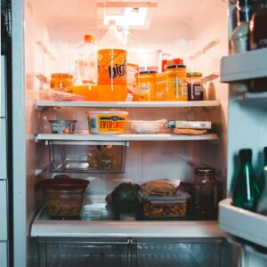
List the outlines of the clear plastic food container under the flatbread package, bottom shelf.
{"type": "Polygon", "coordinates": [[[177,190],[175,196],[148,196],[139,191],[141,216],[148,220],[183,220],[190,216],[190,195],[183,190],[177,190]]]}

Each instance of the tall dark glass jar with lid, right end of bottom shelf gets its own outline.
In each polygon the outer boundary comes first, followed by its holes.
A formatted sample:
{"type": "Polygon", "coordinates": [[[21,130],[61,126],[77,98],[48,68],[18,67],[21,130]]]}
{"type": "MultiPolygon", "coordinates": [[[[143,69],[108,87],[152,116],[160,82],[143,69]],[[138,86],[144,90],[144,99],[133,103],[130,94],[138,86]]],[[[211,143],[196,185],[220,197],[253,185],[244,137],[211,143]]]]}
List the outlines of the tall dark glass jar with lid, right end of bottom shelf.
{"type": "Polygon", "coordinates": [[[195,219],[216,219],[218,210],[218,185],[214,168],[195,168],[192,198],[195,219]]]}

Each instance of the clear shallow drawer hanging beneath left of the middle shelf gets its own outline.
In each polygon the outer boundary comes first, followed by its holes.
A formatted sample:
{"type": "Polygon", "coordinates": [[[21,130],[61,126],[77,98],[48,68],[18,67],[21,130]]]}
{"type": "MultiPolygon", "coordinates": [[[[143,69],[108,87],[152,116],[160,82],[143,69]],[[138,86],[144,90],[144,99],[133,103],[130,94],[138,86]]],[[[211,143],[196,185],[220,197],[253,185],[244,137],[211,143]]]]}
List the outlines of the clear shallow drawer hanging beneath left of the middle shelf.
{"type": "Polygon", "coordinates": [[[120,174],[128,142],[48,141],[51,172],[120,174]]]}

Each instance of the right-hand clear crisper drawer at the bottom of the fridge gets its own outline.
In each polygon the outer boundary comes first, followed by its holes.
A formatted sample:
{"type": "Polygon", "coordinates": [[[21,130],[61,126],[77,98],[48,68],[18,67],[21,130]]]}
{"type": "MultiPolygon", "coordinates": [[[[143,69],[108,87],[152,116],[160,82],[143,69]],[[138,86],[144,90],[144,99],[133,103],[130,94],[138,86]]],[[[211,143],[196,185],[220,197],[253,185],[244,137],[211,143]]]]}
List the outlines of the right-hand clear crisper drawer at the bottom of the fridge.
{"type": "Polygon", "coordinates": [[[222,246],[223,239],[141,240],[137,241],[137,266],[219,267],[222,246]]]}

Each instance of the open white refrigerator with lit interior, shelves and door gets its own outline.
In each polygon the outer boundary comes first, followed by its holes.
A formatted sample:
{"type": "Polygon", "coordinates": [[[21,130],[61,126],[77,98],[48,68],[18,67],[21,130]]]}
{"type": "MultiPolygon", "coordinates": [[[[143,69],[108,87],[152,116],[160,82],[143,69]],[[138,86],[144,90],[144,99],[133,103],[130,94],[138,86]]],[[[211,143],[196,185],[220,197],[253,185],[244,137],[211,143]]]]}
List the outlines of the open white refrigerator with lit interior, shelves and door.
{"type": "MultiPolygon", "coordinates": [[[[266,93],[235,93],[233,86],[267,76],[266,49],[229,54],[229,36],[236,26],[233,2],[12,1],[13,266],[267,264],[266,216],[231,206],[239,149],[253,149],[260,173],[266,145],[266,93]],[[147,8],[142,25],[119,28],[128,48],[153,51],[158,62],[161,54],[170,53],[182,58],[188,70],[201,71],[205,101],[40,100],[51,74],[73,73],[76,47],[85,34],[100,40],[107,29],[104,17],[124,13],[125,8],[147,8]],[[107,109],[126,110],[131,120],[207,120],[213,128],[201,136],[89,134],[86,112],[107,109]],[[77,120],[77,133],[82,134],[51,134],[49,120],[54,117],[77,120]],[[81,220],[52,220],[39,186],[40,180],[59,174],[51,161],[110,143],[126,151],[125,171],[69,173],[90,182],[85,208],[98,206],[86,210],[81,220]],[[218,172],[218,220],[109,218],[105,197],[119,183],[160,178],[192,182],[196,166],[213,166],[218,172]]],[[[139,61],[143,63],[144,56],[139,61]]]]}

